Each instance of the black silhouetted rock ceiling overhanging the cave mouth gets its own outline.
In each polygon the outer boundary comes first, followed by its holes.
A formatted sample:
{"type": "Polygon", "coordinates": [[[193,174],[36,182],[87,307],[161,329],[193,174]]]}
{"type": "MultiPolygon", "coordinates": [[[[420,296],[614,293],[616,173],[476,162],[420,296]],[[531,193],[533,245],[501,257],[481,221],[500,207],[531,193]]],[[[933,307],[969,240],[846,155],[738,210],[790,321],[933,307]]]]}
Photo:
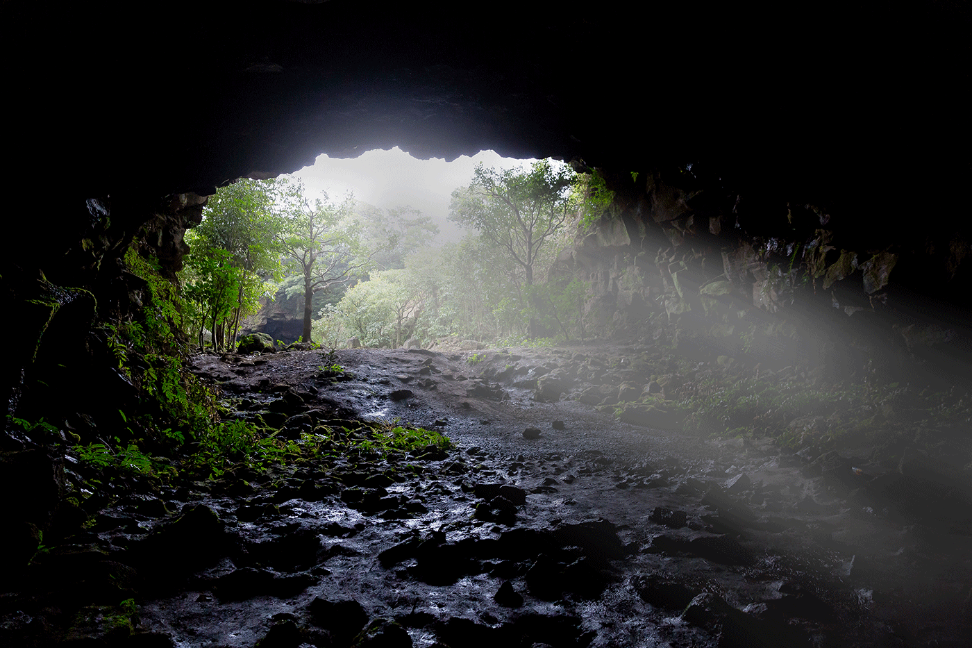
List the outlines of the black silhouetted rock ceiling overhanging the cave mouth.
{"type": "MultiPolygon", "coordinates": [[[[767,14],[8,0],[0,11],[9,234],[29,236],[43,212],[65,224],[48,233],[52,251],[84,235],[87,198],[126,205],[112,215],[130,230],[168,195],[395,145],[623,170],[695,162],[737,189],[870,224],[951,221],[970,172],[960,3],[767,14]]],[[[29,266],[20,255],[36,252],[12,254],[29,266]]]]}

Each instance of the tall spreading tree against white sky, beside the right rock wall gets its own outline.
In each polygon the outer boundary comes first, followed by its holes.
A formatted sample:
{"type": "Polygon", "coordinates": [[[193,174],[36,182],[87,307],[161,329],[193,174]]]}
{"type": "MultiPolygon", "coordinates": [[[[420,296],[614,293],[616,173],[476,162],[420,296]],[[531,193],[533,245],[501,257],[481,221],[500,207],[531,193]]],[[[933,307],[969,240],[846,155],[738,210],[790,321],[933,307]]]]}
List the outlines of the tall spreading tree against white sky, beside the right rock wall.
{"type": "MultiPolygon", "coordinates": [[[[469,187],[452,193],[450,220],[479,232],[522,270],[528,295],[540,253],[567,222],[573,172],[549,160],[529,169],[476,167],[469,187]]],[[[530,336],[536,337],[530,317],[530,336]]]]}

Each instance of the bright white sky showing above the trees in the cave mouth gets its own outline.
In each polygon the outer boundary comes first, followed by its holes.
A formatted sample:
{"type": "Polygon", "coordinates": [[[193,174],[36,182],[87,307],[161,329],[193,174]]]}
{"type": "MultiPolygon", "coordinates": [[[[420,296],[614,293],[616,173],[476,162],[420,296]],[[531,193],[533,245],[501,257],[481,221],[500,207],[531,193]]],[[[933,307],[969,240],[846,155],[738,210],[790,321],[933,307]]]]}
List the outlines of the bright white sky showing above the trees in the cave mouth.
{"type": "Polygon", "coordinates": [[[359,200],[386,209],[411,205],[433,218],[439,228],[437,241],[445,242],[462,236],[448,221],[449,201],[454,190],[469,185],[479,162],[487,168],[510,168],[536,161],[501,158],[494,151],[480,151],[452,162],[441,158],[417,160],[395,147],[368,151],[354,159],[318,156],[313,166],[304,166],[293,175],[303,180],[309,197],[327,192],[330,198],[340,200],[351,192],[359,200]]]}

